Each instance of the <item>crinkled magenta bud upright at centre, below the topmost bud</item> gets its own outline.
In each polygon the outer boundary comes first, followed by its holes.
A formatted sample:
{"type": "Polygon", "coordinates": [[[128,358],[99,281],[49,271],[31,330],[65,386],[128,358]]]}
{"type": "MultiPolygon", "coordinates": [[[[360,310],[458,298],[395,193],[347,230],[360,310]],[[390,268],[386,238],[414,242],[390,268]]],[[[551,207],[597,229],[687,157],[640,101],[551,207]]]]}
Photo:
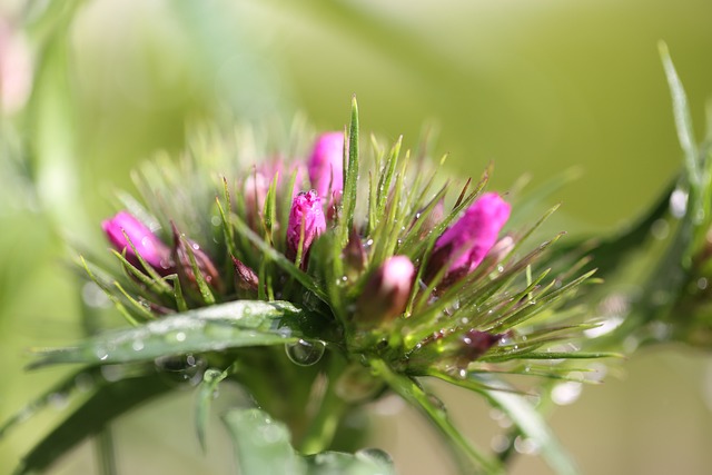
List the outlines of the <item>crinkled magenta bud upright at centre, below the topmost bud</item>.
{"type": "Polygon", "coordinates": [[[291,202],[289,211],[289,225],[287,227],[287,256],[296,258],[299,250],[299,241],[304,235],[301,245],[301,267],[306,268],[309,248],[322,232],[326,230],[326,220],[322,210],[322,198],[315,190],[300,192],[291,202]]]}

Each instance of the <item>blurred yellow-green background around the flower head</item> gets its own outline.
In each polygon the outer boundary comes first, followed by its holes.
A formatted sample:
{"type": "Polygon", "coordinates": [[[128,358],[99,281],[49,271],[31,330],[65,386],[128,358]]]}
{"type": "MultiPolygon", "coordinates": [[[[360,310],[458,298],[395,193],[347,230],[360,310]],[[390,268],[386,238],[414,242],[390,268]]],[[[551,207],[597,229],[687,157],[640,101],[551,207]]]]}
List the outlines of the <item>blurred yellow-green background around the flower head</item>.
{"type": "MultiPolygon", "coordinates": [[[[437,130],[435,150],[449,152],[455,172],[478,176],[494,161],[496,189],[580,167],[555,197],[556,226],[603,232],[640,212],[680,165],[657,41],[699,131],[712,93],[708,0],[2,0],[0,16],[0,68],[13,58],[8,46],[23,42],[34,78],[24,108],[2,97],[0,419],[63,374],[24,373],[27,349],[83,331],[62,238],[101,246],[112,190],[132,189],[130,170],[155,151],[179,150],[187,121],[288,123],[301,112],[340,129],[356,93],[366,131],[414,146],[425,127],[437,130]]],[[[496,424],[484,404],[446,393],[459,425],[490,445],[496,424]]],[[[231,473],[217,419],[216,445],[199,453],[190,397],[117,423],[122,473],[231,473]]],[[[230,394],[220,400],[229,406],[230,394]]],[[[0,473],[63,403],[0,441],[0,473]]],[[[400,473],[453,469],[417,416],[393,400],[374,412],[374,444],[400,473]]],[[[681,347],[636,354],[553,424],[587,474],[708,473],[712,358],[681,347]]],[[[85,445],[52,473],[92,471],[85,445]]],[[[523,455],[514,473],[548,469],[523,455]]]]}

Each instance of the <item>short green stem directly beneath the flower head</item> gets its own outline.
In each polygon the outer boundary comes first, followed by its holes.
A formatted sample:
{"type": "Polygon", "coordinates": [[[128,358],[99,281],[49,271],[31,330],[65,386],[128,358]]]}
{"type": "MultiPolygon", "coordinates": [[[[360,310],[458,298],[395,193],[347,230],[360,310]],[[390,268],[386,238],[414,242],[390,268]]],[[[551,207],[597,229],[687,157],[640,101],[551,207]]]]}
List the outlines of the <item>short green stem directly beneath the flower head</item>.
{"type": "Polygon", "coordinates": [[[322,398],[322,404],[307,427],[307,431],[299,445],[299,452],[305,455],[317,454],[326,451],[338,428],[338,423],[348,407],[335,390],[336,380],[342,374],[346,362],[340,356],[334,354],[327,373],[327,386],[322,398]]]}

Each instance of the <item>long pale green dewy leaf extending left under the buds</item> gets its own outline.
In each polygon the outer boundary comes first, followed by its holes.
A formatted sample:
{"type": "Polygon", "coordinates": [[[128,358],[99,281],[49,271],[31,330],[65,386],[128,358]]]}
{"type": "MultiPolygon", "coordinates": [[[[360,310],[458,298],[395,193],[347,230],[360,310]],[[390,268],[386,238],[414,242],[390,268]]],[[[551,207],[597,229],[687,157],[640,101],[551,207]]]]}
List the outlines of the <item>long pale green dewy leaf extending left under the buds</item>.
{"type": "Polygon", "coordinates": [[[159,356],[280,345],[303,336],[304,313],[287,301],[238,300],[107,331],[75,347],[43,352],[31,368],[59,363],[105,365],[159,356]]]}

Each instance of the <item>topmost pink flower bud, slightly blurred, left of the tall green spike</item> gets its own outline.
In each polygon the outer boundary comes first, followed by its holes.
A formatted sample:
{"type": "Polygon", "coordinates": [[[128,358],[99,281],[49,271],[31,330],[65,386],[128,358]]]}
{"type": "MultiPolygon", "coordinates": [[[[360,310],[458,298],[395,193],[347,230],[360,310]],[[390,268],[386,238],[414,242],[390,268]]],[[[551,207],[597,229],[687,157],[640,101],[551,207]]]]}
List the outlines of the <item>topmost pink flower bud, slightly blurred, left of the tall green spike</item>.
{"type": "Polygon", "coordinates": [[[312,187],[319,196],[340,196],[344,188],[344,132],[327,132],[317,138],[308,170],[312,187]]]}

